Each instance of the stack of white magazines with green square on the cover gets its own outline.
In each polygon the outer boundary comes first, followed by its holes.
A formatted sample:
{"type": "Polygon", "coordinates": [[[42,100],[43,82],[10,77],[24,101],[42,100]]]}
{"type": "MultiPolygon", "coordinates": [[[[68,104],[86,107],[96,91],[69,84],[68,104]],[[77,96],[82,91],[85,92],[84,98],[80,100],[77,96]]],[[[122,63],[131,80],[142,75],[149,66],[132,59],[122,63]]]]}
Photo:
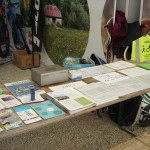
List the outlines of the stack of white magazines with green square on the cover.
{"type": "Polygon", "coordinates": [[[69,114],[75,114],[95,106],[91,98],[71,87],[61,91],[49,92],[46,95],[53,103],[64,108],[69,114]]]}

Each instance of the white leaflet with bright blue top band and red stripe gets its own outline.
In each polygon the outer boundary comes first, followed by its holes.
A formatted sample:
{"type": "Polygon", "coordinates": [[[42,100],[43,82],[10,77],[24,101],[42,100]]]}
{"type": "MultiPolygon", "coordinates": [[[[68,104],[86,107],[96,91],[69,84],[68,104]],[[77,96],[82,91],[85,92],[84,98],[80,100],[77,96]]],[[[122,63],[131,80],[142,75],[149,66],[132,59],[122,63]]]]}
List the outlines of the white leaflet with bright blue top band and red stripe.
{"type": "Polygon", "coordinates": [[[25,124],[30,124],[42,120],[41,117],[38,116],[30,106],[17,107],[14,108],[14,111],[25,124]]]}

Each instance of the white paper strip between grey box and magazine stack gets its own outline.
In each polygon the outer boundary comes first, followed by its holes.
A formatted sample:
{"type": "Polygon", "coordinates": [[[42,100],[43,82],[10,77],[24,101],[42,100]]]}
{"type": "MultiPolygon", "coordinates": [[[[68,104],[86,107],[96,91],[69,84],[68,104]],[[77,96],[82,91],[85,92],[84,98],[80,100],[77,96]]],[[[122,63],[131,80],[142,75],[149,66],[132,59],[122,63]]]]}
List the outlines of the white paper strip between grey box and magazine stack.
{"type": "Polygon", "coordinates": [[[62,85],[57,85],[57,86],[52,86],[52,87],[49,87],[50,90],[52,91],[60,91],[60,90],[63,90],[63,89],[66,89],[66,88],[79,88],[80,86],[83,86],[83,85],[86,85],[85,82],[83,81],[76,81],[76,82],[72,82],[72,83],[67,83],[67,84],[62,84],[62,85]]]}

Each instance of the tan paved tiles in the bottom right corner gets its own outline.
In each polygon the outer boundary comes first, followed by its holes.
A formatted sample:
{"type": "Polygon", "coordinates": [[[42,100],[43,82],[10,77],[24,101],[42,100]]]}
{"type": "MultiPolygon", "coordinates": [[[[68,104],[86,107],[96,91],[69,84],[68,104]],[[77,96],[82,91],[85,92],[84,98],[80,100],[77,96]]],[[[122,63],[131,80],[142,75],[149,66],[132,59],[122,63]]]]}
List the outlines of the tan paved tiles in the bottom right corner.
{"type": "Polygon", "coordinates": [[[150,131],[121,143],[110,150],[150,150],[150,131]]]}

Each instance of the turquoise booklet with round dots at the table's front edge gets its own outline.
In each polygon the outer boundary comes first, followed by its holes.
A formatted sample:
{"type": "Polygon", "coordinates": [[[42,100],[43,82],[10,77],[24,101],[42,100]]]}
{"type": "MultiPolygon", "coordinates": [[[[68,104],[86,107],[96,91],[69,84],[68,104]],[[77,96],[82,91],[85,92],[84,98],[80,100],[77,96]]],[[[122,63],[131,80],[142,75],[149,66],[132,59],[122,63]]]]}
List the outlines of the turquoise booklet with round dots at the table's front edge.
{"type": "Polygon", "coordinates": [[[54,105],[51,101],[45,101],[30,105],[36,113],[38,113],[43,119],[49,119],[56,116],[65,114],[60,108],[54,105]]]}

